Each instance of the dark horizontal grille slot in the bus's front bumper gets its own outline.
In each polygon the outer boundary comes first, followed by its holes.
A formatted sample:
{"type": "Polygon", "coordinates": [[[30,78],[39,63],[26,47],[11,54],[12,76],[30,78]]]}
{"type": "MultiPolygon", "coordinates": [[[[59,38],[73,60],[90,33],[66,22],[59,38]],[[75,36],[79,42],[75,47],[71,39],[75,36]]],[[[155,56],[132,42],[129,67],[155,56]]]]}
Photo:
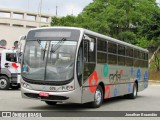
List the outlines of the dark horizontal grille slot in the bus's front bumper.
{"type": "Polygon", "coordinates": [[[49,97],[40,97],[38,94],[34,94],[34,93],[24,93],[24,94],[30,98],[45,99],[45,100],[67,100],[68,99],[68,97],[57,96],[57,95],[49,95],[49,97]]]}

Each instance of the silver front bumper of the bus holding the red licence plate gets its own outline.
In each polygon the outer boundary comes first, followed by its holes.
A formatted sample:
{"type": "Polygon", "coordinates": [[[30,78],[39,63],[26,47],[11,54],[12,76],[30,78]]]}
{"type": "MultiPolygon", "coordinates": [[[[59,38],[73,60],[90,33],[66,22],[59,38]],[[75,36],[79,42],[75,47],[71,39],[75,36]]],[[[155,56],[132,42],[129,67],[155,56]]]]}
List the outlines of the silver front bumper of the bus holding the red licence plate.
{"type": "Polygon", "coordinates": [[[42,101],[55,101],[55,102],[66,102],[66,103],[82,103],[81,101],[81,88],[77,88],[73,91],[67,92],[44,92],[26,89],[21,87],[22,98],[28,99],[39,99],[42,101]],[[49,94],[49,96],[40,96],[40,93],[49,94]]]}

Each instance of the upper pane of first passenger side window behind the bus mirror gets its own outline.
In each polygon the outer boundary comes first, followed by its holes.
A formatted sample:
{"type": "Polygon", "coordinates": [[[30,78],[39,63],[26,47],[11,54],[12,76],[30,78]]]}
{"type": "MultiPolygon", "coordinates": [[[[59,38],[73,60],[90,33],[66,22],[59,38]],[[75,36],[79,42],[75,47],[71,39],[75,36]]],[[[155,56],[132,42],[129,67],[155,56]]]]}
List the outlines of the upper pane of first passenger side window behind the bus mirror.
{"type": "Polygon", "coordinates": [[[107,42],[103,40],[97,40],[97,50],[98,51],[107,51],[107,42]]]}

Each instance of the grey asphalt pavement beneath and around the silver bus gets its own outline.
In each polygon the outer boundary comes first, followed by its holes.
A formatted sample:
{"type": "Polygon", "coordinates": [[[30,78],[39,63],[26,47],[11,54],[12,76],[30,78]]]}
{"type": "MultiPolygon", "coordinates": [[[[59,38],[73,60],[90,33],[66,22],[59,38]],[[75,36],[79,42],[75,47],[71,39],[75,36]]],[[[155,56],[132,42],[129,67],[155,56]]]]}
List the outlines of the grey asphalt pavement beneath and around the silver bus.
{"type": "Polygon", "coordinates": [[[124,97],[105,100],[97,109],[77,104],[48,106],[39,100],[22,99],[20,90],[6,90],[0,91],[0,111],[160,111],[160,85],[150,85],[135,100],[124,97]]]}

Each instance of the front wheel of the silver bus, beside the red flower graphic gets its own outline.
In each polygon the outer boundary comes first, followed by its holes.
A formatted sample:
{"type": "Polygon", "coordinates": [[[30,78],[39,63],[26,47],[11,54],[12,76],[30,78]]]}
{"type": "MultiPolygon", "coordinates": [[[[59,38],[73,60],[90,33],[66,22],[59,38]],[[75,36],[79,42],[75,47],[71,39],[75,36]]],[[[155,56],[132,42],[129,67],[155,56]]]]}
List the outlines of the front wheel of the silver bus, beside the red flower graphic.
{"type": "Polygon", "coordinates": [[[94,94],[94,101],[91,103],[93,108],[98,108],[103,102],[103,90],[101,86],[98,86],[94,94]]]}

